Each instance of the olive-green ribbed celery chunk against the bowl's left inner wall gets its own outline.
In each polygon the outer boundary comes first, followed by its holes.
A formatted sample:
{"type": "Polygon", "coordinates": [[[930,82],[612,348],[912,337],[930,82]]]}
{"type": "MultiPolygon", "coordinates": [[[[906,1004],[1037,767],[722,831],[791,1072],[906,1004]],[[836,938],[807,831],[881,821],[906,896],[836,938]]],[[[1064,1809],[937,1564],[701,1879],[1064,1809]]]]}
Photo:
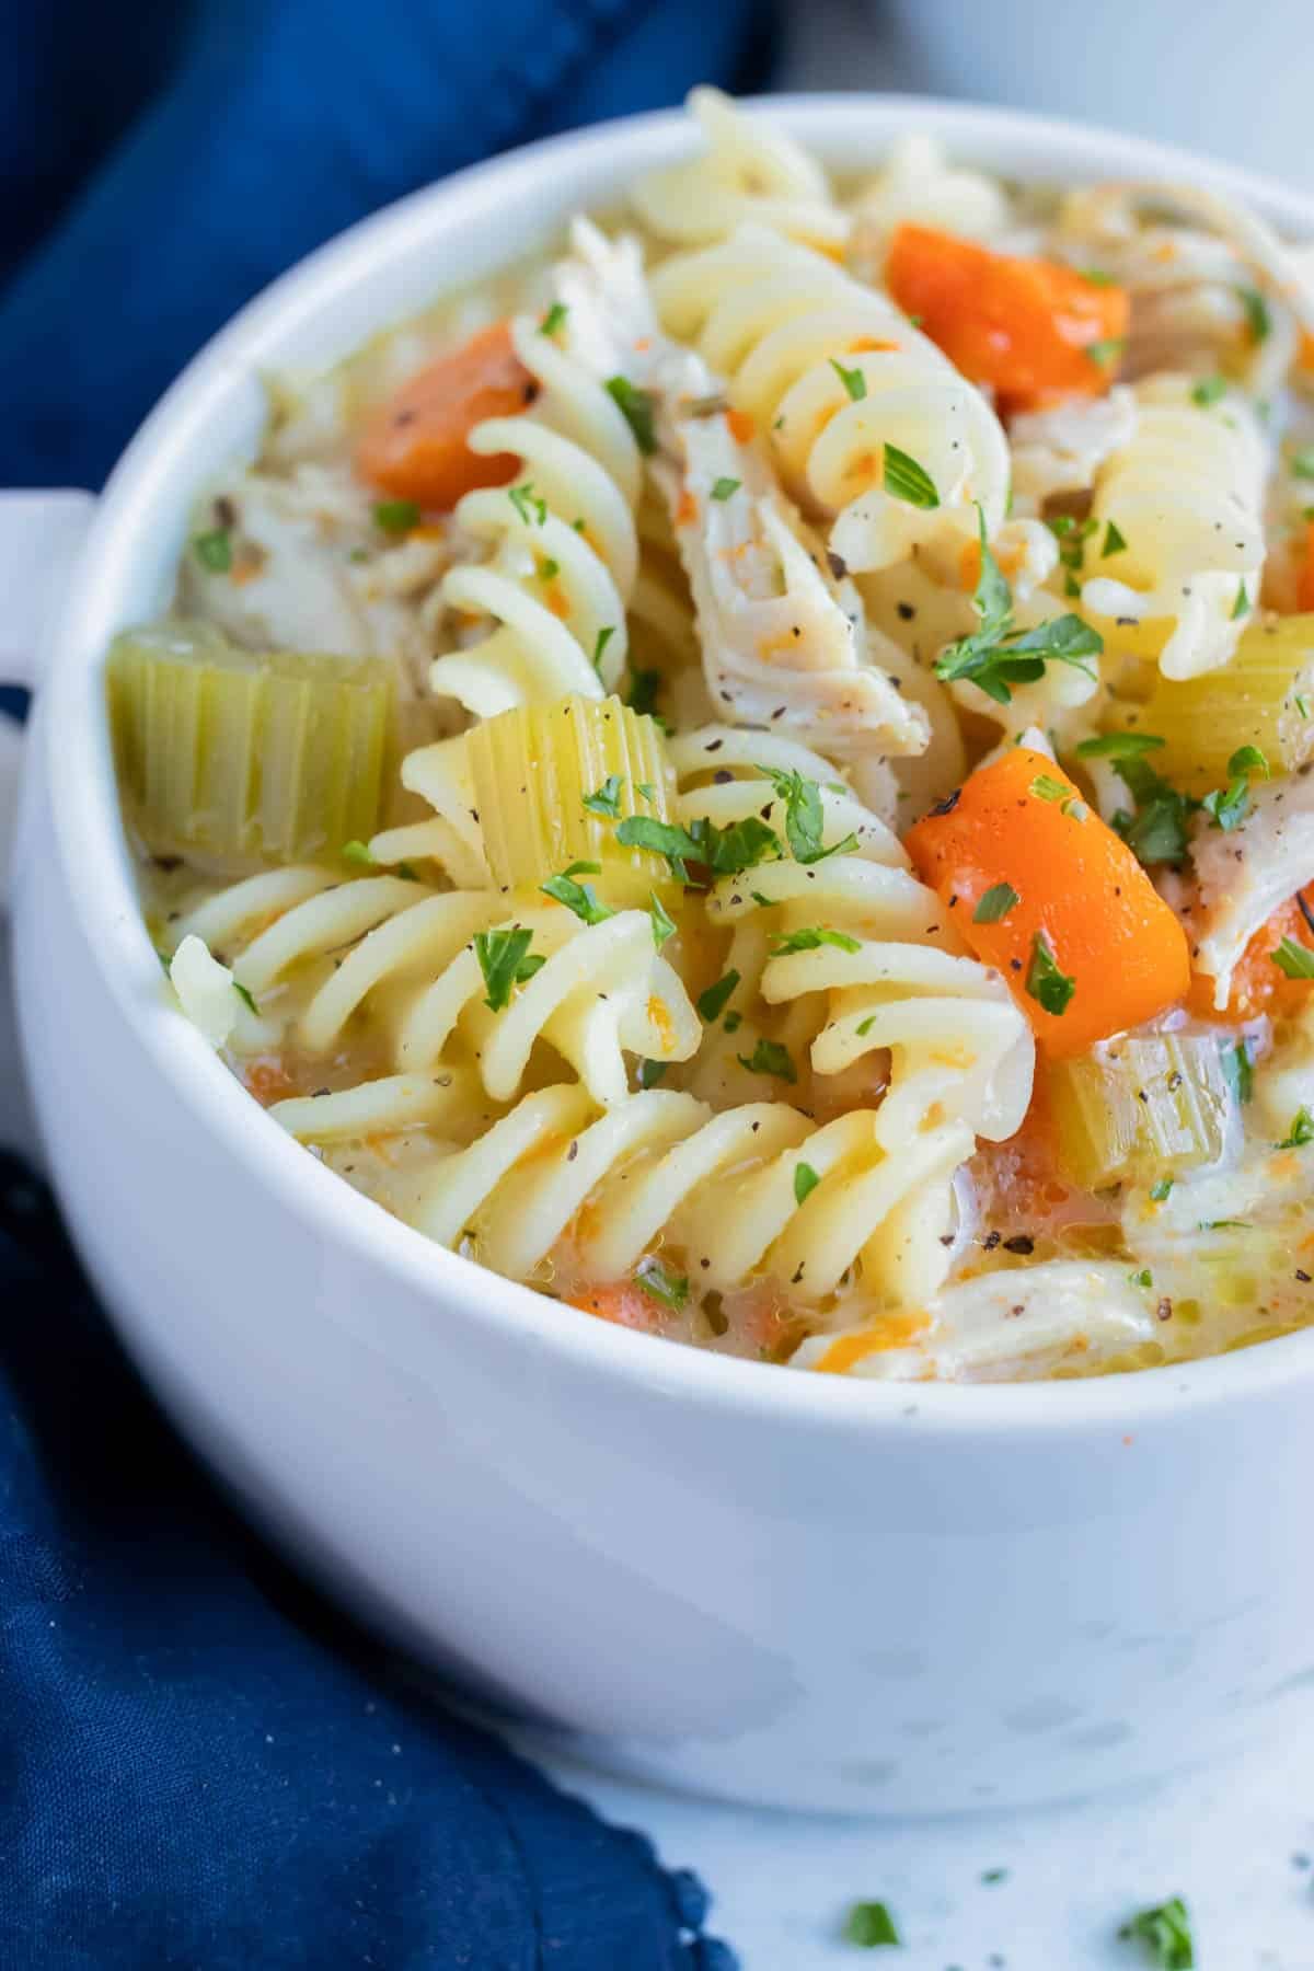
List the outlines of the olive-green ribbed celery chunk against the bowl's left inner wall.
{"type": "Polygon", "coordinates": [[[378,828],[392,678],[378,658],[252,652],[211,623],[122,631],[108,656],[118,781],[156,853],[335,859],[378,828]]]}

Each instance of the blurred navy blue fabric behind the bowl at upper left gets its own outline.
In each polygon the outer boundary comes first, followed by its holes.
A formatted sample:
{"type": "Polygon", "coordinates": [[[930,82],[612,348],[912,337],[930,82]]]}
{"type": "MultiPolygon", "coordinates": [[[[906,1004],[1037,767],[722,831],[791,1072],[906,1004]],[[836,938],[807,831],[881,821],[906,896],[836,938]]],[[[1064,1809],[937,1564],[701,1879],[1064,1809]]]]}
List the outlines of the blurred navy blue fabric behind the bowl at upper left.
{"type": "Polygon", "coordinates": [[[0,485],[99,487],[187,357],[311,246],[530,138],[676,102],[699,77],[756,85],[770,16],[772,0],[0,0],[0,485]]]}

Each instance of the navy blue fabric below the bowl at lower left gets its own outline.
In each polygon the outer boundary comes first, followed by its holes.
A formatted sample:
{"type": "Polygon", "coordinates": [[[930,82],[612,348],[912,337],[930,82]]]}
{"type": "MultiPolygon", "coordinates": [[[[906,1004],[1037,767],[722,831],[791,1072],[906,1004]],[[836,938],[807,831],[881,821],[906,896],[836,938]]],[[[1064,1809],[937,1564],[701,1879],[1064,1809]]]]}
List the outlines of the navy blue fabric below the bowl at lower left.
{"type": "Polygon", "coordinates": [[[4,1971],[727,1971],[695,1876],[248,1535],[0,1153],[4,1971]]]}

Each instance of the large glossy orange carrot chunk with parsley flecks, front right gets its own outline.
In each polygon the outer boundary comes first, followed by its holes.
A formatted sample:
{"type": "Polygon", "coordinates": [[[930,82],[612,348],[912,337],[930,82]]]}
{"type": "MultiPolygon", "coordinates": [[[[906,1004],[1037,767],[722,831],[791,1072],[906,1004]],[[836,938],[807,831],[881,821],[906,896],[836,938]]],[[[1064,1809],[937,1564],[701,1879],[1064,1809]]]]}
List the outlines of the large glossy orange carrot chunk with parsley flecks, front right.
{"type": "Polygon", "coordinates": [[[1186,932],[1044,753],[1011,747],[908,834],[924,883],[997,966],[1054,1060],[1186,995],[1186,932]]]}

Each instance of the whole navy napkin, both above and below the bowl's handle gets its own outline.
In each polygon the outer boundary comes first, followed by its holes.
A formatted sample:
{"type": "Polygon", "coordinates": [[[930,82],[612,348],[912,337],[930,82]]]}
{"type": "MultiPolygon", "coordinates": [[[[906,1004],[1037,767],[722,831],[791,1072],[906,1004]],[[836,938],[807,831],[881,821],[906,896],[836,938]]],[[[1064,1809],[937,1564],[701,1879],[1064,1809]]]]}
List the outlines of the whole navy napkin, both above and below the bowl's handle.
{"type": "MultiPolygon", "coordinates": [[[[491,152],[762,81],[760,0],[0,0],[0,485],[99,485],[270,278],[491,152]]],[[[124,1175],[130,1181],[130,1173],[124,1175]]],[[[246,1535],[0,1155],[6,1971],[727,1971],[707,1898],[246,1535]]]]}

